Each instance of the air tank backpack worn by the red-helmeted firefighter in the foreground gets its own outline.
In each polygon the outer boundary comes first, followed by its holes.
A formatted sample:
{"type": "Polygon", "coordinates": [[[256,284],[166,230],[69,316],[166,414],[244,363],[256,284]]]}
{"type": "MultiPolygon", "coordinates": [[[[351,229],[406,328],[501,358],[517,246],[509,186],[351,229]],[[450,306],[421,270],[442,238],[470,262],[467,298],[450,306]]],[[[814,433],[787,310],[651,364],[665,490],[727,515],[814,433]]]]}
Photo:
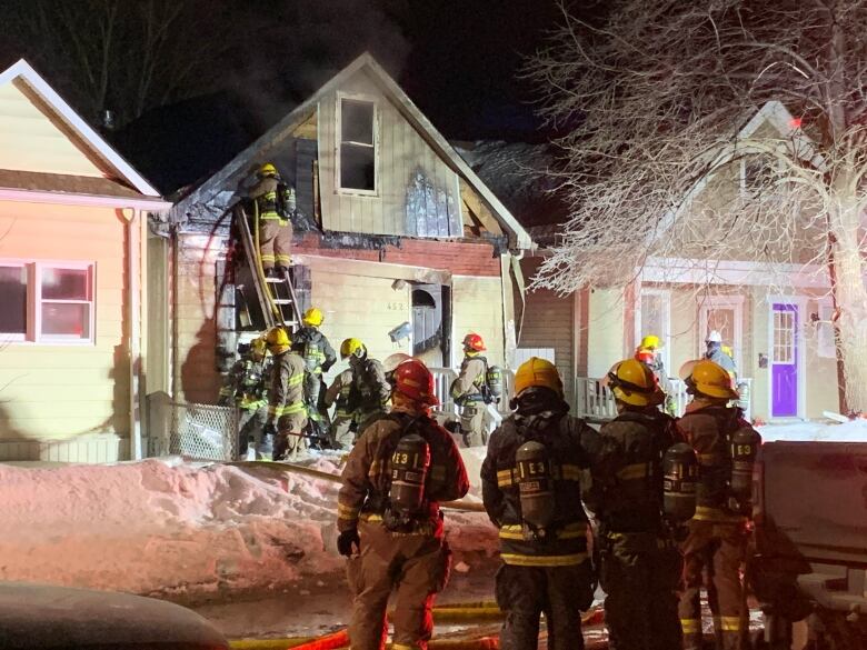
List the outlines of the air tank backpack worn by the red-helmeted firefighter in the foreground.
{"type": "Polygon", "coordinates": [[[382,517],[386,529],[409,531],[426,511],[426,484],[430,472],[430,444],[420,434],[403,429],[391,453],[388,506],[382,517]]]}

